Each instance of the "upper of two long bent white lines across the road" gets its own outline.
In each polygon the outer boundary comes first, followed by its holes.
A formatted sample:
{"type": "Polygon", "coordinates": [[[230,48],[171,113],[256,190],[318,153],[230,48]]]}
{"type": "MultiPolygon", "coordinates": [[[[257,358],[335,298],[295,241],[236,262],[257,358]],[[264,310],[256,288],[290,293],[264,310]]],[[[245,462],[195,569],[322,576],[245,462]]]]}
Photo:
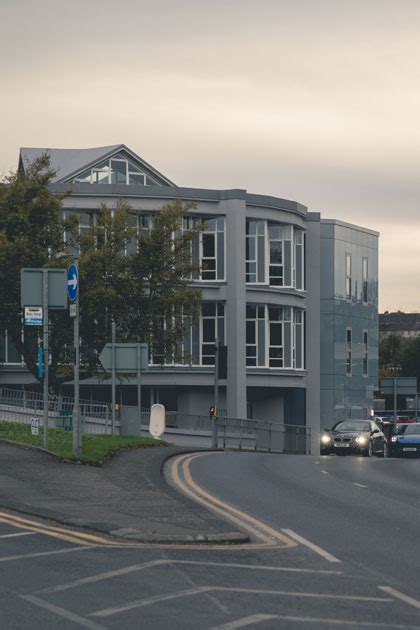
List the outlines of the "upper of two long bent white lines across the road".
{"type": "Polygon", "coordinates": [[[121,575],[128,575],[135,573],[136,571],[143,571],[143,569],[149,569],[160,565],[192,565],[201,567],[222,567],[230,569],[245,569],[250,571],[274,571],[285,573],[309,573],[309,574],[321,574],[321,575],[342,575],[342,571],[330,571],[328,569],[304,569],[297,567],[273,567],[270,565],[258,565],[258,564],[240,564],[235,562],[205,562],[200,560],[152,560],[143,564],[132,564],[121,569],[114,569],[113,571],[106,571],[105,573],[97,573],[96,575],[90,575],[85,578],[74,580],[73,582],[67,582],[66,584],[58,584],[57,586],[50,586],[44,588],[38,593],[58,593],[60,591],[67,591],[78,586],[84,586],[85,584],[93,584],[95,582],[101,582],[103,580],[110,580],[114,577],[121,575]]]}

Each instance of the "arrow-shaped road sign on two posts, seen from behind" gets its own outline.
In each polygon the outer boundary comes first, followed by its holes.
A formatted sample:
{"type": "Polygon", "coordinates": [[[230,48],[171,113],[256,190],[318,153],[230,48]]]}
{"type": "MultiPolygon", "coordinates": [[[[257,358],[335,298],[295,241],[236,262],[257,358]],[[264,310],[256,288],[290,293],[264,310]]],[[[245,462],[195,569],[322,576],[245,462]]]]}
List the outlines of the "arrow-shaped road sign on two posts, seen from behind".
{"type": "Polygon", "coordinates": [[[149,349],[147,343],[116,343],[116,326],[112,323],[112,343],[107,343],[99,361],[107,372],[111,372],[112,435],[115,435],[115,375],[137,373],[137,410],[141,433],[141,372],[149,369],[149,349]]]}

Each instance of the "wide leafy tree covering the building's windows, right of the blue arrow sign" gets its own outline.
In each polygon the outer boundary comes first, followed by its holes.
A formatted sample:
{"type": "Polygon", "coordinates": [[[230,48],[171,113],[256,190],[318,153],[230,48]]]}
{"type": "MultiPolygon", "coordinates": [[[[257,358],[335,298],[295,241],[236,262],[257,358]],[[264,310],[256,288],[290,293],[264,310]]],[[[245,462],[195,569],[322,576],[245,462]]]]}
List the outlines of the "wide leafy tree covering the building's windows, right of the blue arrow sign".
{"type": "MultiPolygon", "coordinates": [[[[89,374],[97,372],[97,355],[110,338],[112,320],[119,341],[148,343],[155,362],[181,359],[182,339],[199,315],[201,300],[189,278],[197,269],[191,243],[202,226],[181,229],[194,207],[180,200],[166,204],[139,234],[132,227],[136,217],[123,201],[112,211],[102,205],[82,236],[74,219],[66,225],[81,252],[80,330],[89,374]]],[[[185,354],[182,358],[188,361],[185,354]]]]}

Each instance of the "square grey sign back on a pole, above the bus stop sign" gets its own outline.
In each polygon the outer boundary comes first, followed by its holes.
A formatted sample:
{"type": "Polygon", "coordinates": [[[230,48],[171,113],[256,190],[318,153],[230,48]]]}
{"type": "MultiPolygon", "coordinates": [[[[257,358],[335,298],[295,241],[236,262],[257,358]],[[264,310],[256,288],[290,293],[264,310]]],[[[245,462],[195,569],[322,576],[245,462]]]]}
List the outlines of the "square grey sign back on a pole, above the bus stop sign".
{"type": "MultiPolygon", "coordinates": [[[[21,269],[21,306],[43,306],[44,269],[21,269]]],[[[67,308],[67,270],[48,269],[48,308],[67,308]]]]}

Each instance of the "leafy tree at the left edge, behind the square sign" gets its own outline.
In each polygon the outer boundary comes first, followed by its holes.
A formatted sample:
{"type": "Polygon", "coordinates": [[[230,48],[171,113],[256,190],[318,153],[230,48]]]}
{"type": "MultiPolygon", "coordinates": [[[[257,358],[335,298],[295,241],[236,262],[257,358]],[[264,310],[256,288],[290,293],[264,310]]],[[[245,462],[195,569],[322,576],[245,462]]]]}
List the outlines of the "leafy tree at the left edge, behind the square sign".
{"type": "MultiPolygon", "coordinates": [[[[60,208],[64,195],[50,191],[54,176],[49,157],[43,155],[26,173],[11,173],[0,185],[0,333],[7,329],[35,376],[39,329],[27,326],[22,339],[20,270],[60,266],[55,257],[62,250],[60,208]]],[[[65,318],[66,314],[55,313],[51,320],[58,323],[65,318]]],[[[51,372],[54,382],[54,365],[51,372]]]]}

